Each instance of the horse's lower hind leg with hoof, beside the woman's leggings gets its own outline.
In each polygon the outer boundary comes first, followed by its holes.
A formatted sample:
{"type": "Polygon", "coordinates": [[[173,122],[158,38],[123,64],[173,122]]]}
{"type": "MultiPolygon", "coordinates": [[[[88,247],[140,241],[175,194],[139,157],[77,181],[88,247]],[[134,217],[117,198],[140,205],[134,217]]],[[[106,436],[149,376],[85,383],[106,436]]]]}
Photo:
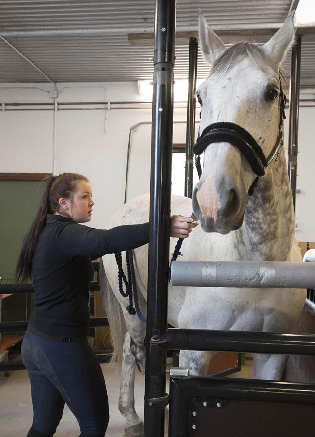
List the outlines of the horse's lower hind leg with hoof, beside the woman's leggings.
{"type": "Polygon", "coordinates": [[[134,408],[135,357],[131,351],[130,333],[127,332],[123,344],[122,376],[119,396],[119,411],[126,418],[124,427],[127,437],[143,436],[143,422],[134,408]]]}

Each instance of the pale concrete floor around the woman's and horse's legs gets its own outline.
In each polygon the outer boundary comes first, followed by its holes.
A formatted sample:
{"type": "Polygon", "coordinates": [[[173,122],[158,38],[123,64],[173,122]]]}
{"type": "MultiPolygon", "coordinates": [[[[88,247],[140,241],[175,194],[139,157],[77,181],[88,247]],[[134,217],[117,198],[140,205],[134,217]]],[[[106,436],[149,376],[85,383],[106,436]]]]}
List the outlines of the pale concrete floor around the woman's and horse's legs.
{"type": "MultiPolygon", "coordinates": [[[[125,419],[121,416],[117,404],[120,386],[120,374],[114,372],[109,364],[101,364],[109,397],[110,422],[106,432],[108,437],[122,437],[125,419]]],[[[252,377],[252,360],[247,359],[241,372],[232,377],[252,377]]],[[[168,387],[168,383],[167,383],[168,387]]],[[[166,390],[169,391],[168,388],[166,390]]],[[[135,407],[143,419],[144,378],[136,371],[135,407]]],[[[0,437],[25,437],[32,423],[32,401],[30,384],[26,370],[15,371],[9,377],[0,373],[0,437]]],[[[77,437],[80,434],[75,417],[65,405],[63,418],[56,437],[77,437]]]]}

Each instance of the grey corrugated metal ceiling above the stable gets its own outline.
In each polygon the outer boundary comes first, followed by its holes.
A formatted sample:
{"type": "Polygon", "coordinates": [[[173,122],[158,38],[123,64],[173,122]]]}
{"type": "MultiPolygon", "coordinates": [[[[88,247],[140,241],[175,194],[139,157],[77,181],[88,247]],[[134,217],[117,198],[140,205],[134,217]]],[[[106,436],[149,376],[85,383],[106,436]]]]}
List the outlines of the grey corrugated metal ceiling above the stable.
{"type": "MultiPolygon", "coordinates": [[[[178,0],[177,31],[196,30],[198,8],[217,30],[276,27],[292,3],[178,0]]],[[[55,82],[151,79],[153,47],[131,45],[128,34],[152,32],[153,25],[154,0],[0,0],[0,35],[55,82]]],[[[188,44],[177,46],[175,78],[187,78],[188,52],[188,44]]],[[[47,81],[3,39],[0,59],[1,82],[47,81]]],[[[208,71],[199,53],[198,77],[208,71]]],[[[315,41],[302,39],[301,84],[315,85],[314,72],[315,41]]]]}

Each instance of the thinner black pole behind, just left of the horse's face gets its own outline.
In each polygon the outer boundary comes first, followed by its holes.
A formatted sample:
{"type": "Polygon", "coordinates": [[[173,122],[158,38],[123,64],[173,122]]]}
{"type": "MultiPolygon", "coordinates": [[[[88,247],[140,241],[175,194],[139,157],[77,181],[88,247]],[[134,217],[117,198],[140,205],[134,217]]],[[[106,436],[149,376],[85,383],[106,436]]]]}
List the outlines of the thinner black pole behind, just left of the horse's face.
{"type": "Polygon", "coordinates": [[[188,96],[186,122],[186,162],[185,162],[185,190],[184,196],[192,197],[193,189],[193,145],[196,114],[196,82],[198,65],[198,40],[190,38],[189,67],[188,67],[188,96]]]}

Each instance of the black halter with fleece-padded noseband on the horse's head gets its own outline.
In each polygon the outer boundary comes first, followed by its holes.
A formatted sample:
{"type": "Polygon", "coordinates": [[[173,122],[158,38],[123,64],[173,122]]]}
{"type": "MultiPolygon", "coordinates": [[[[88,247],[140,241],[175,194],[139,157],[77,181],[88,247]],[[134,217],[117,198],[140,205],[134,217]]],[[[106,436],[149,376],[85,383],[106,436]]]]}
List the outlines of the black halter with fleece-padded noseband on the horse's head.
{"type": "Polygon", "coordinates": [[[252,171],[257,175],[256,179],[253,181],[249,188],[249,196],[252,196],[254,188],[258,185],[261,176],[264,176],[266,168],[279,154],[280,147],[283,145],[283,134],[282,134],[282,124],[283,119],[286,118],[284,107],[287,98],[280,88],[279,94],[279,112],[280,112],[280,122],[279,122],[279,134],[275,145],[266,158],[261,147],[252,137],[252,135],[247,132],[246,129],[239,125],[229,122],[212,123],[207,126],[201,135],[198,135],[197,142],[193,147],[193,152],[198,155],[196,158],[196,167],[198,170],[199,177],[201,176],[201,165],[200,165],[200,155],[205,151],[205,149],[211,143],[221,143],[227,142],[233,144],[236,148],[244,154],[248,163],[250,164],[252,171]]]}

